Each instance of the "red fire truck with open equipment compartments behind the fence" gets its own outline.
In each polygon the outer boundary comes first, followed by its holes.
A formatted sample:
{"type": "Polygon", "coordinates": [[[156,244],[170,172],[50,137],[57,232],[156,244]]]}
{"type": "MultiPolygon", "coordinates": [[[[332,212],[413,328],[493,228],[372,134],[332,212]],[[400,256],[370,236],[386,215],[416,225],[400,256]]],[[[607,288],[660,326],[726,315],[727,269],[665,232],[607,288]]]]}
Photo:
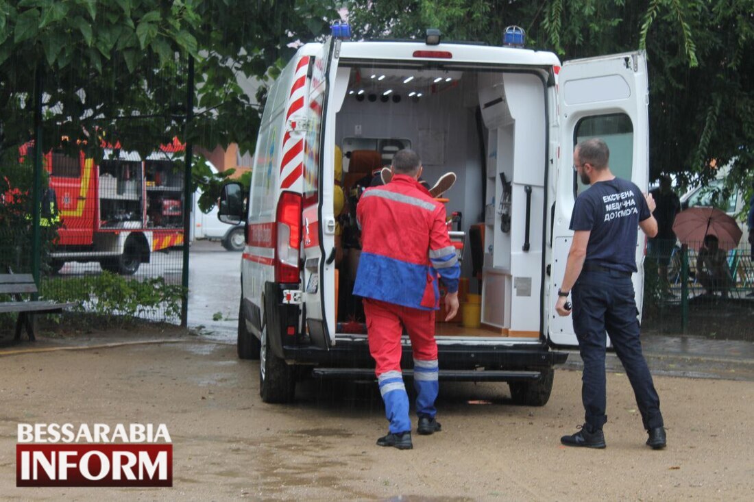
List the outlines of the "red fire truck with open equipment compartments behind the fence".
{"type": "Polygon", "coordinates": [[[99,165],[83,153],[44,155],[60,218],[54,271],[66,262],[99,262],[131,275],[153,252],[182,245],[184,176],[173,160],[183,145],[174,140],[146,158],[118,146],[106,148],[99,165]]]}

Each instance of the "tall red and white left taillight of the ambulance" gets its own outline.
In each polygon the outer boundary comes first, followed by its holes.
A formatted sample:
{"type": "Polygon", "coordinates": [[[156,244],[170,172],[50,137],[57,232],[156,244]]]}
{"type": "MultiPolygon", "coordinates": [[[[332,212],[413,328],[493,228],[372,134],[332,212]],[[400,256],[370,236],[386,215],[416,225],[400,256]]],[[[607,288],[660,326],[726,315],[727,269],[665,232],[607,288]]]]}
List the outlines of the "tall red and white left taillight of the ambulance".
{"type": "Polygon", "coordinates": [[[299,282],[299,247],[301,245],[301,194],[284,191],[277,203],[275,229],[275,282],[299,282]]]}

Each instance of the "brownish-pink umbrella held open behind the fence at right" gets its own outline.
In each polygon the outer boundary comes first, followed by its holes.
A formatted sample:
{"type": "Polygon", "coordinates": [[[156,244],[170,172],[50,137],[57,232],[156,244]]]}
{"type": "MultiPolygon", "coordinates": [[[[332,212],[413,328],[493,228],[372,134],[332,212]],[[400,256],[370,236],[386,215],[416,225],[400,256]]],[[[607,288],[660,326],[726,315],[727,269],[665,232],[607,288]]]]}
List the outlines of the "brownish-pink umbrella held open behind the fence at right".
{"type": "Polygon", "coordinates": [[[704,236],[718,238],[721,249],[733,249],[741,240],[741,229],[736,220],[716,207],[689,207],[676,215],[673,232],[681,243],[699,249],[704,236]]]}

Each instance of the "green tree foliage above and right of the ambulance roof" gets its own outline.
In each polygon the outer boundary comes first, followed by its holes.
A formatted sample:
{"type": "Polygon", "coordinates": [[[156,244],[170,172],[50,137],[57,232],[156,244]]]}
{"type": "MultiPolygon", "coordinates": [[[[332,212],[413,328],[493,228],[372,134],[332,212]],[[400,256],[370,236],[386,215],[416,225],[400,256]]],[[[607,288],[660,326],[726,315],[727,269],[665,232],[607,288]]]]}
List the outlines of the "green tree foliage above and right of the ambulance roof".
{"type": "Polygon", "coordinates": [[[645,49],[650,81],[651,177],[735,160],[731,183],[754,176],[754,0],[351,0],[357,38],[422,38],[500,44],[505,26],[527,47],[562,60],[645,49]]]}

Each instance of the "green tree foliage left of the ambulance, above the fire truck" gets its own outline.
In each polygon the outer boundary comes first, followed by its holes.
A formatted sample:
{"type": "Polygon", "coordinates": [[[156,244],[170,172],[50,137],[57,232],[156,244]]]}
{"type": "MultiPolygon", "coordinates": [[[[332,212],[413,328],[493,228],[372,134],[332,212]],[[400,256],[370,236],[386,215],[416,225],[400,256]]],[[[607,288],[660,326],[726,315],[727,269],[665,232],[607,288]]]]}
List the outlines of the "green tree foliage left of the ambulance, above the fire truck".
{"type": "Polygon", "coordinates": [[[320,36],[336,17],[332,2],[313,0],[0,0],[0,155],[32,137],[38,74],[48,148],[97,157],[97,134],[143,154],[174,136],[253,150],[259,110],[240,82],[264,81],[293,41],[320,36]]]}

